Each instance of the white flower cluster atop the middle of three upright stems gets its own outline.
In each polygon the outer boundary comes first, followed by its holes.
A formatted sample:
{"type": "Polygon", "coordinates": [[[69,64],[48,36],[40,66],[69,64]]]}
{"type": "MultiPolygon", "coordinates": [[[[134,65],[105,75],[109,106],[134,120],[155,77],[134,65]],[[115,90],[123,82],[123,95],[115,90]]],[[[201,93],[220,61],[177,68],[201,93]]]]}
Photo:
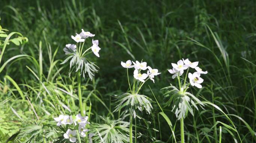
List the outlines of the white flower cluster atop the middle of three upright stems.
{"type": "Polygon", "coordinates": [[[152,80],[155,83],[154,77],[158,74],[158,69],[152,69],[150,66],[147,66],[146,62],[139,62],[139,61],[131,61],[128,60],[125,63],[121,61],[121,65],[124,68],[132,68],[134,67],[133,76],[135,79],[140,80],[141,82],[145,82],[145,79],[149,77],[150,80],[152,80]],[[132,65],[132,63],[134,65],[132,65]],[[148,70],[147,70],[148,69],[148,70]],[[141,70],[147,70],[147,73],[141,73],[141,70]]]}

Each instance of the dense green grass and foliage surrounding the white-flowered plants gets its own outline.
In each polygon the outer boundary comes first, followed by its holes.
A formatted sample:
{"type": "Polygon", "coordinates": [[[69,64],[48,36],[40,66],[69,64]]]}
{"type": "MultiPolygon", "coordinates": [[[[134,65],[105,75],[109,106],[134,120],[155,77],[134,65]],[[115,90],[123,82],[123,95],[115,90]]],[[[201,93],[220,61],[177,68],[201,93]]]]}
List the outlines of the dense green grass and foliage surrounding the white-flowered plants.
{"type": "Polygon", "coordinates": [[[185,142],[256,142],[255,13],[253,0],[1,0],[0,143],[66,141],[54,117],[76,115],[81,107],[76,74],[60,63],[81,29],[95,34],[101,48],[99,58],[88,55],[98,73],[81,78],[94,141],[100,134],[105,142],[129,142],[129,112],[125,118],[114,112],[129,90],[120,63],[143,60],[161,74],[140,90],[152,109],[138,111],[133,142],[180,142],[180,122],[162,88],[179,87],[167,69],[189,58],[208,74],[203,88],[188,89],[204,106],[184,119],[185,142]],[[14,35],[4,42],[3,32],[14,35]]]}

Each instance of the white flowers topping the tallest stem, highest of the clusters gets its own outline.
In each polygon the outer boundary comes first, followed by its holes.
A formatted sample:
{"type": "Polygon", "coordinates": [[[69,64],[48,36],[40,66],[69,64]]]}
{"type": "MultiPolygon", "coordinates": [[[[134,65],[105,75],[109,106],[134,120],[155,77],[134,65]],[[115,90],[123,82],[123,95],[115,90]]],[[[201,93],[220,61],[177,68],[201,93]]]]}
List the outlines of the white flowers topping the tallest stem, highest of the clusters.
{"type": "MultiPolygon", "coordinates": [[[[85,42],[85,39],[88,37],[94,37],[95,34],[91,34],[90,32],[85,32],[82,29],[82,32],[80,34],[76,34],[76,36],[71,35],[71,38],[76,41],[77,43],[79,42],[85,42]]],[[[100,47],[99,45],[99,41],[98,40],[93,40],[92,39],[92,47],[91,50],[92,52],[97,56],[100,57],[99,55],[99,51],[100,51],[100,47]]],[[[71,54],[71,52],[76,52],[76,45],[74,44],[67,44],[65,48],[63,48],[63,51],[65,52],[65,54],[71,54]]]]}

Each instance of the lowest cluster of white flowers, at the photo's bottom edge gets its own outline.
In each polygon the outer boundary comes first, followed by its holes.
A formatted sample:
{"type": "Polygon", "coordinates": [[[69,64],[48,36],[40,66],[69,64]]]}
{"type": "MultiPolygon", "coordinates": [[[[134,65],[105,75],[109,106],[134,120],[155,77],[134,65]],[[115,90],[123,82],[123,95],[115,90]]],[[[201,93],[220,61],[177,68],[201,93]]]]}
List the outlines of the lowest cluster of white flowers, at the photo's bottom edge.
{"type": "MultiPolygon", "coordinates": [[[[67,124],[73,124],[77,125],[79,124],[79,133],[81,134],[81,136],[85,137],[86,136],[86,132],[88,132],[89,130],[86,129],[86,125],[90,124],[88,122],[88,116],[82,117],[80,114],[76,115],[76,119],[73,121],[72,116],[69,115],[60,115],[59,117],[54,118],[55,121],[57,121],[57,126],[60,125],[67,125],[67,124]]],[[[69,139],[70,142],[74,143],[76,142],[76,130],[71,130],[68,129],[67,132],[63,135],[65,139],[69,139]]],[[[89,140],[91,143],[91,137],[93,136],[93,134],[89,134],[89,140]]]]}

